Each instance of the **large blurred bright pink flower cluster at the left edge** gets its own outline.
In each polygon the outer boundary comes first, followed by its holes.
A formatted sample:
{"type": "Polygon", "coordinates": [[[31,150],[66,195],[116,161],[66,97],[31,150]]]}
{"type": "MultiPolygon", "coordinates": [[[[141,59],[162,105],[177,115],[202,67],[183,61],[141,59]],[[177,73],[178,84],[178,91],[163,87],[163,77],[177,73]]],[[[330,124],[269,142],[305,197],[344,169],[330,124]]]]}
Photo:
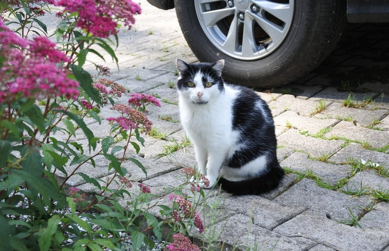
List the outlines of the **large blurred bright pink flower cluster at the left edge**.
{"type": "Polygon", "coordinates": [[[17,36],[0,21],[0,102],[12,102],[17,95],[45,99],[64,95],[76,99],[78,82],[67,77],[59,63],[68,62],[65,54],[55,49],[47,37],[33,41],[17,36]]]}

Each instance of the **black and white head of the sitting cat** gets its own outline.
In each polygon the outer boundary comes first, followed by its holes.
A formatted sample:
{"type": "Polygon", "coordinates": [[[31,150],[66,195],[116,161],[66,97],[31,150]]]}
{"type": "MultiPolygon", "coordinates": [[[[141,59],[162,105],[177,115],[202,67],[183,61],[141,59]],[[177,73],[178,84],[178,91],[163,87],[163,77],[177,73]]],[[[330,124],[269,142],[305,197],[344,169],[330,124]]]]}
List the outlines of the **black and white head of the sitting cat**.
{"type": "Polygon", "coordinates": [[[187,64],[177,59],[176,66],[179,71],[178,92],[188,103],[207,104],[224,91],[221,79],[224,60],[187,64]]]}

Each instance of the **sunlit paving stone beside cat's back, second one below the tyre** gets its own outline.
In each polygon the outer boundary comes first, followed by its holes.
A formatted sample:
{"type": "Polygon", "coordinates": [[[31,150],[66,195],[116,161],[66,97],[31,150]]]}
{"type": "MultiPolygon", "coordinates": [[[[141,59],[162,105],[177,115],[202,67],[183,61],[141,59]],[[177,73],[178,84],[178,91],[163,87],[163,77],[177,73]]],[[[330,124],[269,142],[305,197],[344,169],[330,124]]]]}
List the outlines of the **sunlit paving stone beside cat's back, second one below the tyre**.
{"type": "Polygon", "coordinates": [[[274,118],[275,125],[291,125],[295,129],[307,131],[310,134],[316,134],[321,129],[334,126],[336,123],[338,123],[338,120],[304,117],[295,111],[285,111],[274,118]]]}

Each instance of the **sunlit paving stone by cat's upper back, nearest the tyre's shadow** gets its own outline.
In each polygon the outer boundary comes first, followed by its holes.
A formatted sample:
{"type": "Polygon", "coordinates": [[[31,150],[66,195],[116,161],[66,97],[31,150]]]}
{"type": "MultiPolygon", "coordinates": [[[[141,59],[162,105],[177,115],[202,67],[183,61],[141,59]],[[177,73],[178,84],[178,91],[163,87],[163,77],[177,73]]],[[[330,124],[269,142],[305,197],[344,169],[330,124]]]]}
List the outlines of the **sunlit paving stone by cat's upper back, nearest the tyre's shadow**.
{"type": "Polygon", "coordinates": [[[314,112],[317,105],[318,99],[297,99],[290,94],[281,95],[276,100],[269,103],[273,117],[286,110],[295,111],[302,116],[309,116],[314,112]]]}

